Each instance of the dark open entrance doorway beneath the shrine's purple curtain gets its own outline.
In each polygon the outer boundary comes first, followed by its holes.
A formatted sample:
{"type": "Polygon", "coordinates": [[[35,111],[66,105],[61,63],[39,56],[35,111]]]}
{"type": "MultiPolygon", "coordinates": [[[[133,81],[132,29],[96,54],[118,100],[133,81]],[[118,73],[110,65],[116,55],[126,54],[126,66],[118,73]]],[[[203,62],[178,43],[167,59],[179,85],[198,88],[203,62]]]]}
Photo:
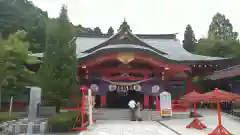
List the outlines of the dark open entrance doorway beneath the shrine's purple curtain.
{"type": "Polygon", "coordinates": [[[143,103],[143,94],[138,91],[123,92],[107,92],[107,105],[108,108],[128,108],[128,102],[135,100],[136,102],[143,103]]]}

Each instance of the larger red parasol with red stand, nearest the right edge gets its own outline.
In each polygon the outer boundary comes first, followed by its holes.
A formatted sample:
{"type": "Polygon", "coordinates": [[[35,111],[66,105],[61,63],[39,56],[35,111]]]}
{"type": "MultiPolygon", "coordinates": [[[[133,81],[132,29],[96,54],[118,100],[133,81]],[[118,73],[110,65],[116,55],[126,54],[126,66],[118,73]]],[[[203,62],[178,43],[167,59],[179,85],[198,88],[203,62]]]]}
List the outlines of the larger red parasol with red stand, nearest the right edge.
{"type": "Polygon", "coordinates": [[[221,120],[221,111],[220,111],[220,102],[224,101],[233,101],[235,99],[240,98],[238,94],[233,94],[231,92],[226,92],[219,90],[218,88],[215,88],[215,90],[211,92],[207,92],[205,94],[201,95],[201,98],[204,101],[214,101],[217,103],[217,109],[218,109],[218,126],[216,129],[213,130],[212,133],[209,133],[208,135],[232,135],[229,131],[227,131],[226,128],[222,126],[222,120],[221,120]]]}

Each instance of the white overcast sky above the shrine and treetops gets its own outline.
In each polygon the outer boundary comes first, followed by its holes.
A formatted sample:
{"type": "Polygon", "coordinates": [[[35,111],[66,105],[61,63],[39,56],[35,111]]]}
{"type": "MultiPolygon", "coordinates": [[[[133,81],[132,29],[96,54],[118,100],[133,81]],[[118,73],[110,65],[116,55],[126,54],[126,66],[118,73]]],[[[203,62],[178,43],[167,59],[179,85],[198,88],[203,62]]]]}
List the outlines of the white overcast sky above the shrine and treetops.
{"type": "Polygon", "coordinates": [[[68,7],[73,24],[102,32],[112,26],[116,31],[124,17],[135,34],[179,33],[183,39],[187,24],[197,38],[207,35],[213,15],[220,12],[240,32],[239,0],[31,0],[50,17],[57,17],[62,4],[68,7]]]}

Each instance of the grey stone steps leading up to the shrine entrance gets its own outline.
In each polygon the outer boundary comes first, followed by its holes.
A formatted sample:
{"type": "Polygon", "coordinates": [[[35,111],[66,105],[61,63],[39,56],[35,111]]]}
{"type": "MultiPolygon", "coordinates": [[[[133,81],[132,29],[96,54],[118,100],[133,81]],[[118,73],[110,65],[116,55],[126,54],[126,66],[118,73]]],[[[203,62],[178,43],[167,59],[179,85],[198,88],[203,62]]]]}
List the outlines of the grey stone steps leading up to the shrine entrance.
{"type": "MultiPolygon", "coordinates": [[[[186,118],[189,116],[188,112],[173,112],[172,118],[186,118]]],[[[129,109],[109,109],[100,108],[93,111],[94,120],[130,120],[129,109]]],[[[163,120],[159,112],[155,110],[144,109],[141,111],[141,118],[144,121],[159,121],[163,120]]]]}

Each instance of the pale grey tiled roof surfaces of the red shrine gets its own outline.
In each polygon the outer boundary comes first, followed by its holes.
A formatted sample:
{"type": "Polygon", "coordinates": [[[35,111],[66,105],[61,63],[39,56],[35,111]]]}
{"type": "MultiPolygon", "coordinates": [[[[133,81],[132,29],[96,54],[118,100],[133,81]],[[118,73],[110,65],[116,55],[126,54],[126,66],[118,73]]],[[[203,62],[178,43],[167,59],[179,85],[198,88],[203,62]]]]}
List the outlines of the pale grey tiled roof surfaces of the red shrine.
{"type": "MultiPolygon", "coordinates": [[[[77,45],[77,56],[78,58],[82,58],[85,56],[88,56],[90,54],[84,54],[83,51],[90,49],[92,47],[95,47],[99,44],[101,44],[103,41],[107,40],[108,38],[89,38],[89,37],[77,37],[76,38],[76,45],[77,45]]],[[[219,60],[223,58],[219,57],[209,57],[209,56],[202,56],[202,55],[196,55],[187,52],[185,49],[183,49],[181,43],[177,39],[141,39],[145,43],[149,44],[150,46],[167,53],[167,55],[162,55],[168,59],[176,60],[176,61],[194,61],[194,60],[219,60]]],[[[136,45],[122,45],[117,44],[114,46],[108,46],[104,47],[98,50],[102,49],[111,49],[111,48],[121,48],[121,47],[127,47],[127,48],[137,48],[142,50],[149,50],[149,48],[136,46],[136,45]]],[[[97,52],[96,50],[95,52],[97,52]]],[[[153,50],[151,50],[154,52],[153,50]]],[[[157,53],[157,52],[154,52],[157,53]]],[[[159,54],[161,55],[161,54],[159,54]]]]}

